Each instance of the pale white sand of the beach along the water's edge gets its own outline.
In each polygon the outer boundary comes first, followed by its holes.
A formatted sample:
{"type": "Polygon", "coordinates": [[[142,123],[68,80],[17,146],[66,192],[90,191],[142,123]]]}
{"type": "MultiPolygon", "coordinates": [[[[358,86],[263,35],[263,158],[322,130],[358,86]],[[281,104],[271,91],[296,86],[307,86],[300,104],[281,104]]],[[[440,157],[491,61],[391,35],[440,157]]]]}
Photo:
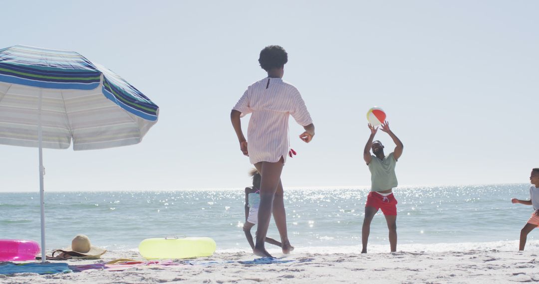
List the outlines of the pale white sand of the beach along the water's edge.
{"type": "MultiPolygon", "coordinates": [[[[107,252],[101,260],[69,260],[94,264],[117,258],[143,260],[137,252],[107,252]]],[[[2,283],[487,283],[539,281],[539,253],[517,251],[308,253],[297,252],[280,264],[245,265],[248,252],[217,252],[192,260],[194,265],[138,266],[125,271],[89,269],[55,275],[0,275],[2,283]],[[310,261],[305,261],[312,259],[310,261]],[[204,264],[213,261],[214,264],[204,264]],[[303,261],[303,262],[300,262],[303,261]],[[199,262],[199,264],[197,264],[199,262]]],[[[177,262],[182,262],[178,260],[177,262]]]]}

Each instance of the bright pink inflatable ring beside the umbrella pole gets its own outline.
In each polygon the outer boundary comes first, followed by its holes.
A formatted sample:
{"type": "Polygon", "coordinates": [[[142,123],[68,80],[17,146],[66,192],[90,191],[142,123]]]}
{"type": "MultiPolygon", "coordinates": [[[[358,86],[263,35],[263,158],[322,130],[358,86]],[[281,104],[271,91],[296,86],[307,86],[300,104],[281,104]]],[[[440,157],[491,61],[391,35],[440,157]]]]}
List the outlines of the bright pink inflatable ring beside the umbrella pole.
{"type": "Polygon", "coordinates": [[[34,240],[0,239],[0,261],[36,260],[40,250],[34,240]]]}

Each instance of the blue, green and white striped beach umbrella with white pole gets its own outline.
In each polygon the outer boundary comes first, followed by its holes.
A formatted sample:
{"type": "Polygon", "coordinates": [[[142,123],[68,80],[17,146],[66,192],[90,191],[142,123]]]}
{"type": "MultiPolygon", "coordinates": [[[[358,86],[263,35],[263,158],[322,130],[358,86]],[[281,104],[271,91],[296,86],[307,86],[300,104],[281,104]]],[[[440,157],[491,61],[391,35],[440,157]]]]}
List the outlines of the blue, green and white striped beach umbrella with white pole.
{"type": "Polygon", "coordinates": [[[95,150],[140,143],[159,108],[109,69],[72,51],[0,49],[0,144],[39,148],[45,261],[43,148],[95,150]]]}

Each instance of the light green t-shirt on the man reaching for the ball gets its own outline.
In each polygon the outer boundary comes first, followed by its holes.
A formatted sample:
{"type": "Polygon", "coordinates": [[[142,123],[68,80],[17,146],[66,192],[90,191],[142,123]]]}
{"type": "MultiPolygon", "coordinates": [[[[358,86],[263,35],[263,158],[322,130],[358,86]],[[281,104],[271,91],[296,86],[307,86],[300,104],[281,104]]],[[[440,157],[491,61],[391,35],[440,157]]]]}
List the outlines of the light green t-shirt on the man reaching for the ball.
{"type": "Polygon", "coordinates": [[[371,155],[369,171],[371,172],[371,191],[383,191],[397,187],[397,175],[395,175],[395,165],[397,160],[393,153],[383,160],[371,155]]]}

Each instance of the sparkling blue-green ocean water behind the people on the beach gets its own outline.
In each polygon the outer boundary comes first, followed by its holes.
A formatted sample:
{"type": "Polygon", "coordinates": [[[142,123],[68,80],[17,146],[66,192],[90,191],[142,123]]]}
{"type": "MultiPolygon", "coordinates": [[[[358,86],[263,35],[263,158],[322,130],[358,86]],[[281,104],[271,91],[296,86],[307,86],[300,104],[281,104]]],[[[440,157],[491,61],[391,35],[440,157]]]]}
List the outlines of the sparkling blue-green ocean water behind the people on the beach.
{"type": "MultiPolygon", "coordinates": [[[[309,251],[358,251],[367,189],[285,189],[288,235],[309,251]]],[[[402,187],[398,200],[398,249],[516,250],[533,209],[510,199],[529,199],[529,184],[402,187]]],[[[66,247],[77,234],[109,250],[134,250],[145,238],[207,236],[218,250],[247,250],[241,229],[245,194],[236,190],[96,191],[45,193],[47,249],[66,247]]],[[[40,239],[39,194],[0,193],[0,238],[40,239]]],[[[254,234],[255,228],[252,232],[254,234]]],[[[269,237],[279,239],[272,221],[269,237]]],[[[539,230],[528,236],[539,251],[539,230]]],[[[389,251],[381,212],[369,244],[389,251]]],[[[269,245],[268,245],[269,246],[269,245]]]]}

